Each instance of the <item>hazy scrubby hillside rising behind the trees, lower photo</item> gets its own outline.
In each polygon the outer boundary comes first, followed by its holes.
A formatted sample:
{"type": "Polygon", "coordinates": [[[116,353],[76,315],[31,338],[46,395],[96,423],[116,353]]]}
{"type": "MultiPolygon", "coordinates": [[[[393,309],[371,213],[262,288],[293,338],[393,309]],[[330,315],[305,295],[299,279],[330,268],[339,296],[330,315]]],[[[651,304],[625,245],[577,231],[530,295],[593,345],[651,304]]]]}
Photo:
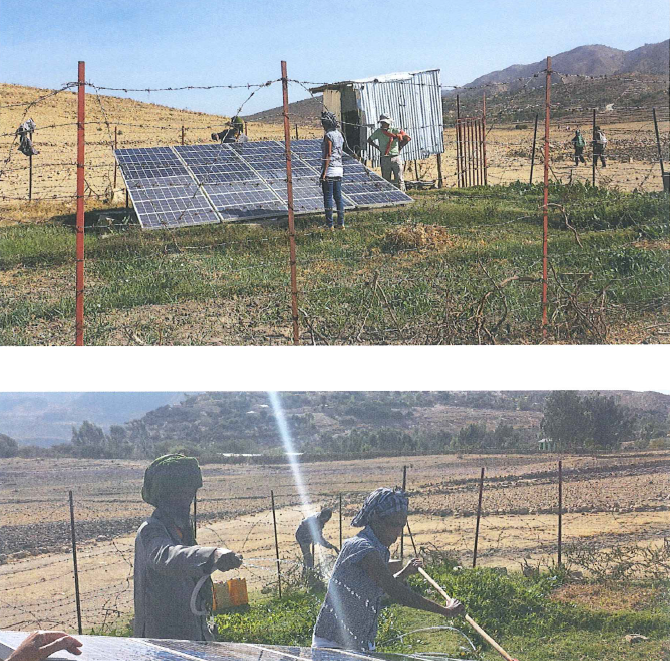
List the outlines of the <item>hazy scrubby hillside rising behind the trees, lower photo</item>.
{"type": "MultiPolygon", "coordinates": [[[[614,396],[638,416],[665,420],[670,414],[668,395],[601,394],[614,396]]],[[[549,391],[294,392],[283,393],[281,401],[298,445],[318,437],[382,428],[414,436],[458,434],[470,424],[483,425],[489,431],[500,424],[510,425],[530,441],[540,432],[548,395],[549,391]]],[[[193,395],[180,404],[150,411],[132,424],[143,425],[149,435],[162,441],[197,445],[225,442],[233,452],[281,445],[270,400],[263,392],[193,395]]]]}

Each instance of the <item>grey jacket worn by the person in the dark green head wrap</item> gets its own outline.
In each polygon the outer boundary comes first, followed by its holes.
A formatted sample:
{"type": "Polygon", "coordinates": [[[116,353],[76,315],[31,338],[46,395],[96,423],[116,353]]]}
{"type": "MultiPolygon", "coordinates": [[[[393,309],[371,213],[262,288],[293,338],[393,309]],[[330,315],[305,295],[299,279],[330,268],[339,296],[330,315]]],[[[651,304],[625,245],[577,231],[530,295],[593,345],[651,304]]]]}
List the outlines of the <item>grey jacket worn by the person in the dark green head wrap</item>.
{"type": "MultiPolygon", "coordinates": [[[[210,574],[216,547],[197,546],[190,530],[179,531],[169,514],[160,508],[139,527],[135,537],[136,638],[213,640],[204,615],[191,611],[196,583],[210,574]],[[185,545],[186,544],[186,545],[185,545]]],[[[198,594],[196,610],[205,609],[202,594],[211,590],[206,582],[198,594]]]]}

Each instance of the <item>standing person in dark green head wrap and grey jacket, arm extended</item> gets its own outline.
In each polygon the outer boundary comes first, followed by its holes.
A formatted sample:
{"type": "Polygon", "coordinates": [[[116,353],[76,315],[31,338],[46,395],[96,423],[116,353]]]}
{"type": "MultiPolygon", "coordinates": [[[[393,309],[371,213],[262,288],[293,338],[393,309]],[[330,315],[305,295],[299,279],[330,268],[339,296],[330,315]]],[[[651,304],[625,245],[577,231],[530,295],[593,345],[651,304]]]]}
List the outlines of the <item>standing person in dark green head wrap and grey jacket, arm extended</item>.
{"type": "Polygon", "coordinates": [[[142,500],[156,509],[135,537],[133,635],[137,638],[214,639],[206,616],[214,599],[209,575],[216,569],[236,569],[242,556],[195,543],[191,503],[201,486],[198,460],[182,454],[159,457],[144,473],[142,500]],[[195,599],[198,614],[192,595],[204,577],[208,578],[195,599]]]}

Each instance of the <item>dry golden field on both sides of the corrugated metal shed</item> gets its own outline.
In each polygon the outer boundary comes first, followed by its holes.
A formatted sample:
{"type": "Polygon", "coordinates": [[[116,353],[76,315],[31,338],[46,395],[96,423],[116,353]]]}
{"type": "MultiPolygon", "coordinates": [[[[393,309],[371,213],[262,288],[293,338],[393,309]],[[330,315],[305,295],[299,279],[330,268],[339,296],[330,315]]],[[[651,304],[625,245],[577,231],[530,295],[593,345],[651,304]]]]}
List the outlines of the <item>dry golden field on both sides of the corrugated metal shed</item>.
{"type": "MultiPolygon", "coordinates": [[[[0,179],[0,226],[33,223],[60,214],[72,213],[76,190],[77,97],[72,91],[48,96],[52,91],[18,85],[0,84],[0,159],[4,161],[0,179]],[[46,98],[43,98],[46,97],[46,98]],[[43,100],[40,100],[43,99],[43,100]],[[30,107],[29,104],[35,102],[30,107]],[[28,117],[37,124],[34,144],[39,151],[33,157],[31,204],[27,204],[29,189],[28,158],[16,149],[13,132],[28,117]]],[[[280,88],[266,90],[268,103],[280,100],[280,88]],[[277,99],[270,98],[276,90],[277,99]]],[[[133,101],[127,98],[88,93],[86,95],[86,196],[87,209],[109,208],[124,200],[124,184],[120,172],[115,175],[112,155],[114,131],[119,148],[156,147],[180,144],[182,127],[186,144],[211,142],[211,133],[227,125],[229,118],[167,106],[133,101]]],[[[300,138],[319,136],[312,122],[297,126],[292,122],[292,134],[300,138]]],[[[528,181],[530,154],[533,142],[532,125],[514,126],[490,124],[488,127],[487,157],[490,184],[528,181]]],[[[250,123],[252,140],[283,140],[280,123],[250,123]]],[[[574,128],[574,126],[572,127],[574,128]]],[[[588,127],[581,127],[588,134],[588,127]]],[[[622,190],[662,190],[660,166],[651,114],[636,122],[604,125],[609,136],[609,164],[598,169],[596,183],[619,187],[622,190]]],[[[659,125],[663,140],[667,140],[670,124],[659,125]]],[[[538,131],[538,151],[542,131],[538,131]]],[[[591,166],[574,167],[570,159],[572,132],[565,122],[552,126],[551,178],[568,182],[590,182],[591,166]]],[[[443,181],[446,187],[456,186],[455,129],[444,134],[442,154],[443,181]]],[[[588,150],[587,150],[588,151],[588,150]]],[[[435,157],[420,161],[421,179],[436,179],[435,157]]],[[[538,157],[534,181],[542,180],[542,163],[538,157]]],[[[412,164],[406,164],[406,178],[415,178],[412,164]]]]}

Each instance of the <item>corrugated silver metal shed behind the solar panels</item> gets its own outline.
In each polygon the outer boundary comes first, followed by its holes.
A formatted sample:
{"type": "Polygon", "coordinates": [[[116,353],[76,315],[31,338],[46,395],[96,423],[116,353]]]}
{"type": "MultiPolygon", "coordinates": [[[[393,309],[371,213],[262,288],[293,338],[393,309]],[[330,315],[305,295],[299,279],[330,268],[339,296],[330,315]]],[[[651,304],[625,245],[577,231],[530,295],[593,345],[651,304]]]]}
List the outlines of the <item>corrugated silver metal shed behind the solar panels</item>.
{"type": "Polygon", "coordinates": [[[390,73],[345,80],[311,90],[323,92],[324,108],[343,123],[347,141],[362,158],[379,165],[379,152],[367,138],[379,124],[381,113],[390,115],[398,128],[412,138],[403,149],[405,161],[428,158],[444,151],[440,70],[390,73]]]}

